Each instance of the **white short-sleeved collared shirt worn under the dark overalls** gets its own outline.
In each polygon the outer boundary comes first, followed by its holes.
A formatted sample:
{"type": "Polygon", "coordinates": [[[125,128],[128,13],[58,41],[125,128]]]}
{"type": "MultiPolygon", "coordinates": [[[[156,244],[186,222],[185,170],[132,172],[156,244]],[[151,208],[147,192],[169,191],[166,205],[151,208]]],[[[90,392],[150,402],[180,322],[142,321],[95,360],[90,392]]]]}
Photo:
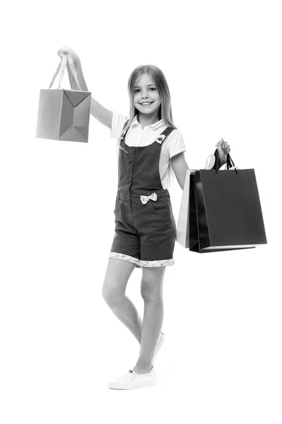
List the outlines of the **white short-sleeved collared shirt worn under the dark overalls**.
{"type": "MultiPolygon", "coordinates": [[[[112,114],[110,136],[111,138],[115,138],[117,141],[117,160],[119,158],[119,136],[122,133],[122,129],[125,122],[127,122],[127,119],[127,116],[119,112],[113,112],[112,114]]],[[[139,124],[137,120],[137,115],[135,115],[129,130],[127,131],[125,142],[128,146],[148,146],[155,141],[155,138],[158,137],[165,128],[167,128],[167,125],[163,122],[163,119],[160,119],[160,121],[155,122],[155,124],[144,126],[142,129],[141,124],[139,124]]],[[[172,156],[177,155],[177,153],[184,151],[186,151],[186,147],[182,134],[178,129],[174,129],[170,135],[165,138],[160,150],[159,172],[163,189],[170,189],[172,177],[170,159],[172,156]]]]}

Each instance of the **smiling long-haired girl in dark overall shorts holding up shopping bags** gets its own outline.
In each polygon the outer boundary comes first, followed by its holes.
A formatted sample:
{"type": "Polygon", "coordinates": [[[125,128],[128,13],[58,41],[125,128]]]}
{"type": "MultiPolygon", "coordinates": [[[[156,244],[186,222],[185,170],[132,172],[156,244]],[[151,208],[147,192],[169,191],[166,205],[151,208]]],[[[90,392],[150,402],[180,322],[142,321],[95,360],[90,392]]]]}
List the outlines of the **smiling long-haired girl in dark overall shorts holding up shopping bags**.
{"type": "MultiPolygon", "coordinates": [[[[61,47],[58,54],[70,54],[76,66],[81,90],[88,91],[78,55],[61,47]]],[[[78,90],[67,62],[71,88],[78,90]]],[[[119,320],[139,341],[136,365],[108,384],[112,389],[137,389],[155,384],[153,363],[163,344],[163,278],[165,267],[173,265],[176,225],[172,213],[170,179],[173,168],[184,188],[189,169],[181,132],[173,124],[170,90],[163,72],[154,65],[138,66],[128,81],[129,118],[102,107],[91,98],[90,113],[111,130],[117,139],[118,186],[114,207],[115,235],[108,258],[102,295],[119,320]],[[168,169],[170,168],[170,169],[168,169]],[[143,322],[125,295],[134,268],[142,268],[143,322]]],[[[223,139],[216,145],[221,165],[230,152],[223,139]]]]}

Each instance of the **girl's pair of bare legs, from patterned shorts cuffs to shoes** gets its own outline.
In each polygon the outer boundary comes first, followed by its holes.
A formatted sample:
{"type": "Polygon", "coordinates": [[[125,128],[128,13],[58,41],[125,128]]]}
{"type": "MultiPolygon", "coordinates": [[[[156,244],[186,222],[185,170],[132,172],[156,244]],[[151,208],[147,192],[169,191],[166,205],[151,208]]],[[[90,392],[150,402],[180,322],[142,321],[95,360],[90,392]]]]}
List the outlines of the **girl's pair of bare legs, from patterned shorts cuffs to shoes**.
{"type": "Polygon", "coordinates": [[[127,264],[122,262],[126,261],[109,259],[102,294],[112,312],[127,326],[127,329],[141,344],[139,359],[134,371],[150,372],[155,347],[163,324],[162,290],[166,267],[143,267],[142,269],[141,295],[144,300],[142,323],[136,307],[125,295],[128,278],[135,266],[129,262],[127,264]]]}

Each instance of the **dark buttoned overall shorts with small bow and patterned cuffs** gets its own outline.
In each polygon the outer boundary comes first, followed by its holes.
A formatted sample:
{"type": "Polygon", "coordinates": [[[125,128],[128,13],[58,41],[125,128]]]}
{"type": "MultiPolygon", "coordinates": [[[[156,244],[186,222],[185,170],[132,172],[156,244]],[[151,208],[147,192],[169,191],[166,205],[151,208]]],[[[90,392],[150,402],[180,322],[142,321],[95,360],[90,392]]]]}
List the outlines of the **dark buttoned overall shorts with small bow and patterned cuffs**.
{"type": "MultiPolygon", "coordinates": [[[[124,124],[127,124],[127,122],[124,124]]],[[[123,130],[124,130],[123,127],[123,130]]],[[[159,161],[166,128],[148,146],[119,145],[118,187],[114,208],[115,235],[109,259],[142,266],[174,265],[177,227],[168,189],[163,189],[159,161]]]]}

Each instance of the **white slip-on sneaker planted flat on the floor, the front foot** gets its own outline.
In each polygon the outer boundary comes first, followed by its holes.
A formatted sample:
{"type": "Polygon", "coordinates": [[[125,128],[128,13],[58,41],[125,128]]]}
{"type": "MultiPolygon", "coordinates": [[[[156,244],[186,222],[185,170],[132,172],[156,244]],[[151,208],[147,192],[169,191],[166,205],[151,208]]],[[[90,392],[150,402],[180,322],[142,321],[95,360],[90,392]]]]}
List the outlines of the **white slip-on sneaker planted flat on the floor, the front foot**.
{"type": "Polygon", "coordinates": [[[151,370],[145,374],[137,374],[134,370],[129,370],[121,377],[117,377],[107,384],[109,389],[139,389],[155,385],[155,371],[151,370]]]}

